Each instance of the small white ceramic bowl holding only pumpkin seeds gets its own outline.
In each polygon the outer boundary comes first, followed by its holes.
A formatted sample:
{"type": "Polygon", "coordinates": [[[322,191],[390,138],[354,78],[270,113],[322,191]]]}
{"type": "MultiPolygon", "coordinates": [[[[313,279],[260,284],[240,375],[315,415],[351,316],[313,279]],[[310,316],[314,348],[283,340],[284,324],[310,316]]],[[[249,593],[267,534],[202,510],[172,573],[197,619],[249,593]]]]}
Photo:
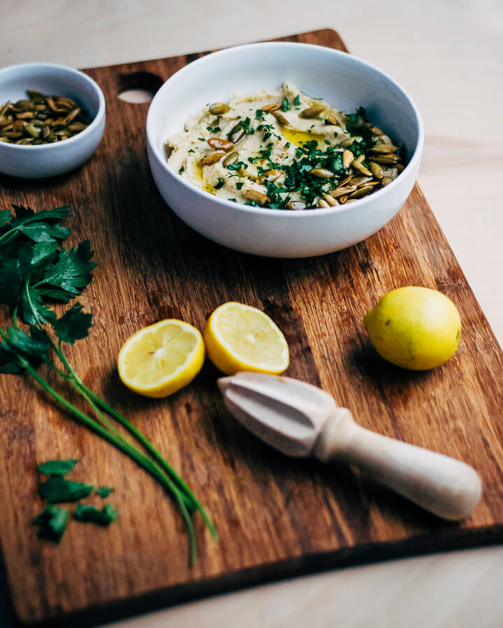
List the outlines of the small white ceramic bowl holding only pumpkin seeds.
{"type": "Polygon", "coordinates": [[[92,123],[64,142],[39,146],[0,142],[0,172],[41,179],[82,165],[98,147],[105,129],[105,97],[99,85],[79,70],[54,63],[21,63],[0,70],[0,107],[8,100],[27,98],[27,89],[75,100],[92,123]]]}

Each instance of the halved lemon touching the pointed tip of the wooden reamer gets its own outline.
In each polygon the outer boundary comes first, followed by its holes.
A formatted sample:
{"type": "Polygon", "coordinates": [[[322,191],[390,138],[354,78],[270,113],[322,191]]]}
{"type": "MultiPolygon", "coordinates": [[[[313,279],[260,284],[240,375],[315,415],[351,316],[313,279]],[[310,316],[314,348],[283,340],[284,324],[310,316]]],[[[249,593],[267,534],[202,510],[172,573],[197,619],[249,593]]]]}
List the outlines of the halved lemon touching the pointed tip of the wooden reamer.
{"type": "Polygon", "coordinates": [[[277,324],[257,308],[230,301],[212,312],[203,329],[206,352],[220,371],[282,373],[289,347],[277,324]]]}

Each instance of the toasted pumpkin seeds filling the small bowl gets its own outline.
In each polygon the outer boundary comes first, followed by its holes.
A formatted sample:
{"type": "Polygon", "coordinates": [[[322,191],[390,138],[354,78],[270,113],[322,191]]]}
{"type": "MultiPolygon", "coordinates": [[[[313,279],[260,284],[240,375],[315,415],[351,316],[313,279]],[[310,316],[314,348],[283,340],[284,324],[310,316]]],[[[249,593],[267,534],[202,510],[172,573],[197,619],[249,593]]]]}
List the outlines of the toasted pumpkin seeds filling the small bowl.
{"type": "Polygon", "coordinates": [[[28,98],[0,107],[0,142],[53,144],[68,140],[91,124],[87,113],[71,98],[45,96],[27,90],[28,98]]]}

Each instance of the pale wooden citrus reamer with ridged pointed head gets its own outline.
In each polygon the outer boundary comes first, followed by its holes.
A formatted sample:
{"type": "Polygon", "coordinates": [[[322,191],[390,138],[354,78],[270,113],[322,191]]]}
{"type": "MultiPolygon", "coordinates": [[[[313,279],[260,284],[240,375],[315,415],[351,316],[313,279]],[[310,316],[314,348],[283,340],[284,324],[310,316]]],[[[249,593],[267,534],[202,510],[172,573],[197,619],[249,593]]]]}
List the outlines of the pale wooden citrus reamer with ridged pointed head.
{"type": "Polygon", "coordinates": [[[325,391],[262,373],[221,377],[228,410],[258,438],[289,456],[345,461],[433,514],[467,517],[481,495],[472,467],[355,423],[325,391]]]}

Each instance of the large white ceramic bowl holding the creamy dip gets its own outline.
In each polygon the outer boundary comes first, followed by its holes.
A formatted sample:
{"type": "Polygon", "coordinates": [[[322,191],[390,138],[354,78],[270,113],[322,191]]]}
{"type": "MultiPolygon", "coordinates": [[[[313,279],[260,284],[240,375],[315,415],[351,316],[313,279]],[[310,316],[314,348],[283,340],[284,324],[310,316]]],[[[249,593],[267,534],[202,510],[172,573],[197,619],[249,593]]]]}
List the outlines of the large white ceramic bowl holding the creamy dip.
{"type": "Polygon", "coordinates": [[[270,257],[332,253],[365,239],[398,212],[421,161],[423,124],[416,105],[393,79],[365,61],[330,48],[258,43],[198,59],[170,77],[147,115],[147,147],[156,186],[171,209],[194,230],[238,251],[270,257]],[[235,92],[252,94],[291,81],[332,107],[367,117],[404,142],[407,167],[385,188],[357,202],[326,209],[263,209],[221,200],[187,184],[166,163],[164,144],[190,114],[235,92]]]}

